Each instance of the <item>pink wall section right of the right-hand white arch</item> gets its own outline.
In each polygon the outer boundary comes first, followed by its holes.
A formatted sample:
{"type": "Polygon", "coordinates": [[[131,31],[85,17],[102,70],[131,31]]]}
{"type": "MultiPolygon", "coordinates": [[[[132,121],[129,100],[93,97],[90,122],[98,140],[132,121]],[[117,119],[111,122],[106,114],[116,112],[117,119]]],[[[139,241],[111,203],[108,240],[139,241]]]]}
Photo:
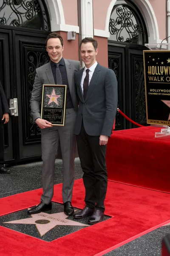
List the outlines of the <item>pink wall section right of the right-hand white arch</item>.
{"type": "Polygon", "coordinates": [[[159,39],[166,38],[166,0],[149,0],[156,15],[159,39]]]}

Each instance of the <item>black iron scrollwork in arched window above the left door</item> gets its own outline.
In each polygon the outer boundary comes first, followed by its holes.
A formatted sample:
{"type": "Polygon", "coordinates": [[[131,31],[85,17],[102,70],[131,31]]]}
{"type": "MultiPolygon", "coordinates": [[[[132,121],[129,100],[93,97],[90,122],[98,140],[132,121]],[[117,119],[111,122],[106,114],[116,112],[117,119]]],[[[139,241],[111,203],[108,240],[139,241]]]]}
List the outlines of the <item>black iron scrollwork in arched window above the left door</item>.
{"type": "Polygon", "coordinates": [[[3,0],[0,16],[1,25],[50,30],[47,12],[40,0],[3,0]]]}

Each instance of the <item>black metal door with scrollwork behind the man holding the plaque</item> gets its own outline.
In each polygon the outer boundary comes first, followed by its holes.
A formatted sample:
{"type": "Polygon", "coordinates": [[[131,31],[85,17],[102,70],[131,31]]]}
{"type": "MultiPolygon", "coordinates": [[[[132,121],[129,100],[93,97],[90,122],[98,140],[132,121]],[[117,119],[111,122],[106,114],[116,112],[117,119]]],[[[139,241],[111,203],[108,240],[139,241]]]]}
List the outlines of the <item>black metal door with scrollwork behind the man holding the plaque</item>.
{"type": "Polygon", "coordinates": [[[29,111],[35,70],[48,62],[46,32],[0,30],[0,78],[7,99],[18,99],[18,116],[10,117],[5,133],[6,163],[41,157],[40,130],[29,111]]]}

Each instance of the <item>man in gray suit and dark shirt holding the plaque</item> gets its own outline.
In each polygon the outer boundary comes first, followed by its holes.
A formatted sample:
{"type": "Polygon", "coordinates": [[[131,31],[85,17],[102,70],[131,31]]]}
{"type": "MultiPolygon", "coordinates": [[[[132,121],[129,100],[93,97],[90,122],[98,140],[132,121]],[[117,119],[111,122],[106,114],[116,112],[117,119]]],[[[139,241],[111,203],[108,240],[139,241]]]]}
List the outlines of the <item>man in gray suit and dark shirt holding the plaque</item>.
{"type": "Polygon", "coordinates": [[[46,50],[50,57],[50,62],[36,70],[30,103],[33,119],[41,130],[43,194],[40,204],[28,210],[28,214],[39,213],[42,210],[49,210],[52,207],[54,166],[59,142],[63,162],[62,199],[64,212],[66,215],[72,215],[74,213],[71,199],[74,184],[74,158],[76,150],[74,125],[78,110],[74,73],[81,67],[79,61],[62,58],[63,49],[62,37],[55,32],[49,34],[46,39],[46,50]],[[67,85],[65,126],[52,126],[51,122],[40,118],[42,84],[67,85]]]}

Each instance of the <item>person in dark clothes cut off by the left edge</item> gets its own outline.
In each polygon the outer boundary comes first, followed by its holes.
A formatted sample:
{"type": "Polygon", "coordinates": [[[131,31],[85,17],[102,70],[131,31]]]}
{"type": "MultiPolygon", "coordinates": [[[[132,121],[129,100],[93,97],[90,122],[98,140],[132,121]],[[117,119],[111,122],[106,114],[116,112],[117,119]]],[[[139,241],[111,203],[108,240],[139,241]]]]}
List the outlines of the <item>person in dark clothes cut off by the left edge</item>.
{"type": "Polygon", "coordinates": [[[0,173],[8,174],[9,170],[4,168],[4,139],[3,139],[3,125],[9,121],[9,107],[6,96],[0,82],[0,173]]]}

